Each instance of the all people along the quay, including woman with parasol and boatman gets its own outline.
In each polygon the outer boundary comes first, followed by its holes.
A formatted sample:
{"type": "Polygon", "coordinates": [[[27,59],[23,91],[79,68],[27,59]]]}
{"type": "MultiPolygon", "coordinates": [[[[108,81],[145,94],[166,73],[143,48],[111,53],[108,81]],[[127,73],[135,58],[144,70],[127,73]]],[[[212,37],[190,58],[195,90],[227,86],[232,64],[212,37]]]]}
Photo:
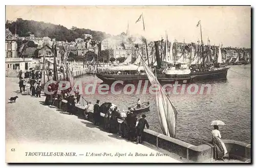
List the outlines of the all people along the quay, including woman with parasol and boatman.
{"type": "MultiPolygon", "coordinates": [[[[25,73],[25,78],[23,78],[22,70],[19,72],[19,88],[20,92],[27,91],[28,94],[34,95],[40,98],[41,94],[41,71],[30,71],[25,73]]],[[[49,74],[51,76],[51,74],[49,74]]],[[[61,101],[67,101],[67,112],[75,115],[77,110],[76,105],[80,104],[80,94],[75,91],[74,94],[69,94],[71,90],[61,90],[60,93],[57,94],[57,85],[50,84],[48,86],[49,91],[55,91],[54,94],[46,94],[45,105],[53,105],[54,98],[59,100],[58,108],[61,108],[61,101]]],[[[99,105],[99,100],[96,101],[96,104],[93,105],[92,102],[88,102],[86,107],[84,108],[83,116],[84,119],[93,119],[95,126],[103,126],[105,131],[110,133],[120,133],[123,138],[127,138],[130,141],[137,141],[138,143],[142,142],[142,134],[145,127],[148,129],[150,126],[146,121],[145,114],[142,114],[141,118],[138,119],[137,115],[132,111],[120,111],[117,106],[113,106],[112,103],[103,103],[99,105]],[[101,116],[101,113],[104,116],[101,116]],[[118,119],[120,119],[118,121],[118,119]],[[120,123],[120,130],[119,130],[120,123]]],[[[137,100],[137,108],[141,108],[140,99],[137,100]]],[[[214,130],[211,132],[212,134],[212,144],[215,149],[215,158],[219,160],[223,160],[223,157],[226,156],[227,150],[220,139],[221,134],[219,131],[219,127],[217,125],[214,126],[214,130]]]]}

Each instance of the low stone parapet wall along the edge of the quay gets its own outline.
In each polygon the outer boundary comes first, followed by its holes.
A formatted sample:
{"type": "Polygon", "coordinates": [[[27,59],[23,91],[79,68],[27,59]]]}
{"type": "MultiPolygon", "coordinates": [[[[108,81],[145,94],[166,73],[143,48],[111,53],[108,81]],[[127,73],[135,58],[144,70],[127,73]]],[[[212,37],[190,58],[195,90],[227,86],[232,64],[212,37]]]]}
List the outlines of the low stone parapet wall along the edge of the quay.
{"type": "MultiPolygon", "coordinates": [[[[58,101],[54,102],[54,106],[58,106],[58,101]]],[[[61,109],[64,111],[67,110],[67,101],[62,100],[61,109]]],[[[82,116],[83,110],[84,107],[82,107],[81,105],[76,106],[76,112],[78,116],[82,116]]],[[[101,113],[101,116],[103,121],[104,114],[101,113]]],[[[122,122],[123,121],[121,119],[118,119],[119,132],[121,132],[120,124],[122,122]]],[[[143,141],[151,143],[152,145],[169,151],[170,153],[175,153],[179,155],[181,159],[185,158],[194,162],[210,162],[213,160],[214,157],[214,150],[212,148],[212,145],[209,143],[195,146],[182,140],[168,137],[166,135],[149,129],[144,130],[143,141]]],[[[250,144],[229,139],[223,139],[223,142],[226,145],[230,158],[238,159],[241,161],[248,161],[251,159],[250,144]]]]}

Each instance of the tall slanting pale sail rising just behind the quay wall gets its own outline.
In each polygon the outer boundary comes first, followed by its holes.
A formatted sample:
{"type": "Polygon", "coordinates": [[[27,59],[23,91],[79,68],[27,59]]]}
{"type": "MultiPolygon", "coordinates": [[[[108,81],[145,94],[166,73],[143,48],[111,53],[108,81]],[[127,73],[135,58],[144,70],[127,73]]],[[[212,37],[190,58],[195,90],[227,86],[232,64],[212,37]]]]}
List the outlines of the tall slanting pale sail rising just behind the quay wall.
{"type": "Polygon", "coordinates": [[[172,101],[168,98],[157,78],[152,73],[150,67],[147,66],[143,59],[141,59],[141,62],[148,80],[150,80],[152,85],[156,85],[158,88],[158,91],[156,91],[157,116],[163,134],[175,138],[177,110],[175,109],[172,101]]]}

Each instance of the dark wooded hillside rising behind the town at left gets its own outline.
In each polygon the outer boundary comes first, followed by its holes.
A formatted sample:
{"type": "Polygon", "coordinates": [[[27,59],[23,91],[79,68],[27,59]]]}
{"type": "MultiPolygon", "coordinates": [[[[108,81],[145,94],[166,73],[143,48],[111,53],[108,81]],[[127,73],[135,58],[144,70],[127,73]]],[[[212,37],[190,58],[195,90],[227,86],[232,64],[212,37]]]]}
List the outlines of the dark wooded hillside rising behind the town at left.
{"type": "Polygon", "coordinates": [[[16,33],[19,37],[27,37],[30,34],[34,34],[35,37],[50,37],[55,38],[58,41],[74,41],[76,38],[81,38],[83,34],[92,34],[93,39],[101,41],[109,36],[105,32],[93,31],[90,29],[79,29],[77,27],[72,27],[67,29],[61,25],[54,25],[52,23],[46,23],[43,21],[34,20],[23,20],[22,18],[17,18],[16,21],[6,21],[6,29],[9,29],[11,33],[16,33]]]}

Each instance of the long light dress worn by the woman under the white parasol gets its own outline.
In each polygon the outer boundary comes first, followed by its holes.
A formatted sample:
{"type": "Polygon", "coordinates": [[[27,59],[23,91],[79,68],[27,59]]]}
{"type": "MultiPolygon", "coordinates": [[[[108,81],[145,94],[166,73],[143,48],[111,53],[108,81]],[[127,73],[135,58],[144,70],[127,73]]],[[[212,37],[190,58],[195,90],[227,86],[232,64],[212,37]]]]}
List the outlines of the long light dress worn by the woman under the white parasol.
{"type": "Polygon", "coordinates": [[[223,159],[223,156],[227,153],[226,146],[221,140],[221,133],[219,130],[212,130],[212,144],[215,147],[215,159],[223,159]]]}

